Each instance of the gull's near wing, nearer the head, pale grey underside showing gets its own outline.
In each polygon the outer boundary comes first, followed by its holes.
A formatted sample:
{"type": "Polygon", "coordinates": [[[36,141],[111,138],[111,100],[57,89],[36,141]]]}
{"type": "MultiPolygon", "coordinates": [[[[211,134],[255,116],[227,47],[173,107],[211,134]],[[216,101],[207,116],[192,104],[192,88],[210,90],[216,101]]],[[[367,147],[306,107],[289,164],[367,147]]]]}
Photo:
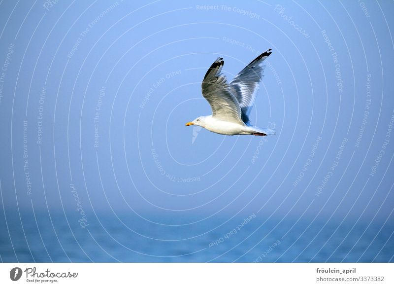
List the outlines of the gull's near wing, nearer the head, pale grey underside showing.
{"type": "Polygon", "coordinates": [[[221,73],[223,64],[223,58],[219,57],[208,69],[201,85],[202,95],[211,106],[213,117],[243,125],[239,102],[221,73]]]}

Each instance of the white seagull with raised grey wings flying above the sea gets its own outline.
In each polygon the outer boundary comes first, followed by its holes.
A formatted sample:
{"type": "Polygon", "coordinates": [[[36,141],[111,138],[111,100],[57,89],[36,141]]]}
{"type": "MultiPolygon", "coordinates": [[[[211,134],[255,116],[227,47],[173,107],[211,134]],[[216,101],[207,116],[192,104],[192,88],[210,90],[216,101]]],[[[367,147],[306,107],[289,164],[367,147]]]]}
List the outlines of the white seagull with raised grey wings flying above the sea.
{"type": "Polygon", "coordinates": [[[263,129],[249,123],[250,110],[255,102],[263,78],[263,61],[271,54],[265,51],[230,83],[222,74],[223,58],[219,57],[208,69],[202,80],[202,96],[212,108],[212,115],[199,116],[186,126],[196,125],[221,135],[275,135],[273,129],[263,129]]]}

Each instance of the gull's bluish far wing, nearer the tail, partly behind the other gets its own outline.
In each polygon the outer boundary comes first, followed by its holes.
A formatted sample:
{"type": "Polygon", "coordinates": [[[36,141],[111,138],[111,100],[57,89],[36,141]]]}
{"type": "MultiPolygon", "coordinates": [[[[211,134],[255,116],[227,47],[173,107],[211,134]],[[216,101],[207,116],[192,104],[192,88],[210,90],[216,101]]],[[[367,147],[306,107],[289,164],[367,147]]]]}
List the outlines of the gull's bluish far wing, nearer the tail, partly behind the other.
{"type": "Polygon", "coordinates": [[[241,117],[245,123],[249,122],[249,113],[255,102],[260,81],[263,78],[265,68],[263,61],[270,54],[271,49],[265,51],[230,81],[230,89],[238,100],[241,107],[241,117]]]}

